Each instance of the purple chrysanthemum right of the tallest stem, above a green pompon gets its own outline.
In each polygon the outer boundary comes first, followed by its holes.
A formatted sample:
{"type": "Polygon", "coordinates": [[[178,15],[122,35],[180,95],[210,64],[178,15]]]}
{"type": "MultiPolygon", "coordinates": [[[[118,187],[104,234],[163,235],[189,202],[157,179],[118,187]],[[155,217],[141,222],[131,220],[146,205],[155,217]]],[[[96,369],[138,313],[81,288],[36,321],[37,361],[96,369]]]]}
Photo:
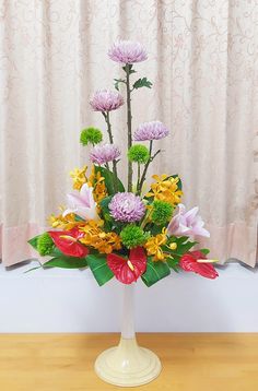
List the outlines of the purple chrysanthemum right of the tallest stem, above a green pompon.
{"type": "Polygon", "coordinates": [[[134,131],[136,141],[160,140],[169,133],[168,129],[161,121],[141,123],[134,131]]]}

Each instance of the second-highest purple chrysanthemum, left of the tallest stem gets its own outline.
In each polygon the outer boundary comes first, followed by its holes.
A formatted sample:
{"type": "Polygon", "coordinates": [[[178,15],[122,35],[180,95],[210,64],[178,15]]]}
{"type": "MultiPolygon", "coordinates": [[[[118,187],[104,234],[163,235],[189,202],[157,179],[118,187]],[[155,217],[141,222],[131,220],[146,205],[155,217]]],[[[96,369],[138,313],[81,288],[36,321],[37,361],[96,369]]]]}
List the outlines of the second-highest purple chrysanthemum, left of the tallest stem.
{"type": "Polygon", "coordinates": [[[112,111],[124,105],[122,96],[108,90],[96,91],[90,100],[94,111],[112,111]]]}

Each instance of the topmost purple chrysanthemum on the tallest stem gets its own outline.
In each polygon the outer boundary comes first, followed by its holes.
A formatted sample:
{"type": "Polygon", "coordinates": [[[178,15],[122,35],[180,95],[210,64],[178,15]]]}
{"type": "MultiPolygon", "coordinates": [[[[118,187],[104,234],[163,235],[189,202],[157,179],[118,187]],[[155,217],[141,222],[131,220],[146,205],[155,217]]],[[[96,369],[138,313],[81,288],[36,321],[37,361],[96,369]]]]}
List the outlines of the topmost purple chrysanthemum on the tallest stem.
{"type": "Polygon", "coordinates": [[[146,60],[146,51],[140,43],[131,40],[118,40],[108,50],[113,61],[121,63],[133,63],[146,60]]]}

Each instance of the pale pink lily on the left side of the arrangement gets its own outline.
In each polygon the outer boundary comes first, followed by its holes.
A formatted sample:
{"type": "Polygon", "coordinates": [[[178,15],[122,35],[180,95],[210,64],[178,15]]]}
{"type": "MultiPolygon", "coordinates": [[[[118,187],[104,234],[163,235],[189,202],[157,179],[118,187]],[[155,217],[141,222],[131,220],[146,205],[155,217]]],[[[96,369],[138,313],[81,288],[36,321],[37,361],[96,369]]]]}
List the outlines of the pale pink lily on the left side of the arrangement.
{"type": "Polygon", "coordinates": [[[74,213],[83,220],[98,220],[96,202],[93,198],[93,188],[84,183],[79,194],[67,194],[68,209],[62,213],[63,217],[69,213],[74,213]]]}

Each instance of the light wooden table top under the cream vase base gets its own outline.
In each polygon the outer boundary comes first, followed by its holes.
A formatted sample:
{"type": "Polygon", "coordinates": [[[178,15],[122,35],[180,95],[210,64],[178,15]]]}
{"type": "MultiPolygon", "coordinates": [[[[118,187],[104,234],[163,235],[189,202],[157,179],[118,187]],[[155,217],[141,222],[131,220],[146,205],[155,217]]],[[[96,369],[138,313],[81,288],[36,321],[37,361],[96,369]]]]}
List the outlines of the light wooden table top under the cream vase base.
{"type": "MultiPolygon", "coordinates": [[[[117,342],[118,334],[1,334],[0,390],[118,390],[93,370],[97,354],[117,342]]],[[[161,376],[139,389],[258,390],[258,334],[151,333],[138,342],[163,364],[161,376]]]]}

